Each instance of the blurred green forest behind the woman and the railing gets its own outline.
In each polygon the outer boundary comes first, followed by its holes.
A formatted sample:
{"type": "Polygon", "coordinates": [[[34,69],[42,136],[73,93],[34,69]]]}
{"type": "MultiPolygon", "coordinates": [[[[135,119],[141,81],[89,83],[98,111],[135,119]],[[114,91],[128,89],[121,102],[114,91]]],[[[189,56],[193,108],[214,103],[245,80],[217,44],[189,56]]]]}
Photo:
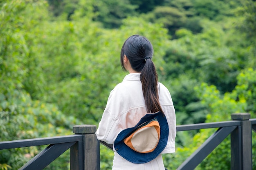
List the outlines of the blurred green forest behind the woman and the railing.
{"type": "MultiPolygon", "coordinates": [[[[127,74],[119,54],[133,34],[153,44],[177,125],[227,121],[231,113],[256,118],[255,0],[0,0],[0,141],[98,125],[127,74]]],[[[178,132],[166,168],[175,170],[213,131],[178,132]]],[[[0,169],[16,170],[42,149],[0,150],[0,169]]],[[[102,170],[111,170],[112,157],[101,146],[102,170]]],[[[45,169],[68,170],[69,151],[45,169]]],[[[229,170],[229,137],[196,169],[229,170]]]]}

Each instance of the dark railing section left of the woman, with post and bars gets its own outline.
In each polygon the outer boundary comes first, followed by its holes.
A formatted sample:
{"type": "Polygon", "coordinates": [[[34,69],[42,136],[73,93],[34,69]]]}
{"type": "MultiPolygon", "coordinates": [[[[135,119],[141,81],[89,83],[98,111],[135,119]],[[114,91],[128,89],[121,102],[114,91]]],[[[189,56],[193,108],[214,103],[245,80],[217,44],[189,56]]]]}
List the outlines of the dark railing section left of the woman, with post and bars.
{"type": "Polygon", "coordinates": [[[96,130],[95,125],[77,125],[73,127],[74,135],[0,142],[0,150],[49,145],[19,170],[42,170],[69,148],[71,170],[99,170],[96,130]]]}

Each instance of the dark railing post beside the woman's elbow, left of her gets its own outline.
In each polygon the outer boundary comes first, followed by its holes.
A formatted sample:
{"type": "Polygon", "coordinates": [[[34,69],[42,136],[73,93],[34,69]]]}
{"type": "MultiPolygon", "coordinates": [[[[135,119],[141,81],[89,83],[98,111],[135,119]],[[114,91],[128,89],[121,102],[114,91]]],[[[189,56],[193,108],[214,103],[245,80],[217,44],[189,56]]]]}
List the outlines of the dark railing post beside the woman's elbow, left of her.
{"type": "Polygon", "coordinates": [[[100,170],[99,141],[95,134],[95,125],[76,125],[73,132],[83,135],[83,142],[70,148],[71,170],[100,170]]]}

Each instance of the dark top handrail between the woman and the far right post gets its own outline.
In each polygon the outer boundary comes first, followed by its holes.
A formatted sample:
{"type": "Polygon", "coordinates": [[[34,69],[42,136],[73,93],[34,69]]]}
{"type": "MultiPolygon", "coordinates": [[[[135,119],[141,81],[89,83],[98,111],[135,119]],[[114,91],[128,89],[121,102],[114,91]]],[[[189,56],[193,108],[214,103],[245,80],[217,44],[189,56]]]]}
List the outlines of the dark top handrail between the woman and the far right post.
{"type": "Polygon", "coordinates": [[[220,128],[220,127],[240,126],[240,125],[241,125],[240,121],[232,120],[232,121],[223,121],[223,122],[177,125],[176,130],[191,131],[191,130],[199,130],[199,129],[220,128]]]}

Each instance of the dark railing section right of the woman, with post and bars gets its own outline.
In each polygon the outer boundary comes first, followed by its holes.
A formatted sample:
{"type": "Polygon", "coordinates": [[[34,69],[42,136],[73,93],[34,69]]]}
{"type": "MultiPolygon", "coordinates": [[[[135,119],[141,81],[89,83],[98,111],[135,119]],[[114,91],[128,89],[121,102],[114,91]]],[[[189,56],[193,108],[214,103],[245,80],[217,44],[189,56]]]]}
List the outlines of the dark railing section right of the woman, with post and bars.
{"type": "Polygon", "coordinates": [[[178,126],[177,131],[218,128],[178,170],[193,170],[229,134],[231,135],[231,170],[252,170],[252,129],[256,130],[256,119],[249,120],[249,113],[234,113],[231,114],[231,118],[233,121],[178,126]]]}

